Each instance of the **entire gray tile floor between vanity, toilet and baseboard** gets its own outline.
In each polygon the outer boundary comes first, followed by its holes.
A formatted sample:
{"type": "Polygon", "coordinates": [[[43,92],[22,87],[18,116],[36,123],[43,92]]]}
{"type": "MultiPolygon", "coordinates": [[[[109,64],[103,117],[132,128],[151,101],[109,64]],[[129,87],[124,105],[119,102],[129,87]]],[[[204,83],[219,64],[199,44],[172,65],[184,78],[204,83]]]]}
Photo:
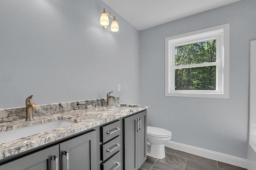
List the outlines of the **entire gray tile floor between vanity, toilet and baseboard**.
{"type": "Polygon", "coordinates": [[[155,159],[148,156],[139,170],[246,170],[167,147],[165,148],[165,156],[164,159],[155,159]]]}

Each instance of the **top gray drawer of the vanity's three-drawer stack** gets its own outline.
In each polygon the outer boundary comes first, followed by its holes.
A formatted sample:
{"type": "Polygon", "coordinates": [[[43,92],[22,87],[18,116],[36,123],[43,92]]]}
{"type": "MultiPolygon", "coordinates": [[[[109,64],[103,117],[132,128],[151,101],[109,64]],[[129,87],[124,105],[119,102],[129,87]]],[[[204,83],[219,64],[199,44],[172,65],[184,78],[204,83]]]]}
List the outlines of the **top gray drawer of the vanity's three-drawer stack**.
{"type": "Polygon", "coordinates": [[[100,131],[101,131],[100,141],[102,143],[105,143],[106,141],[109,141],[110,139],[120,135],[121,134],[120,120],[100,127],[100,131]]]}

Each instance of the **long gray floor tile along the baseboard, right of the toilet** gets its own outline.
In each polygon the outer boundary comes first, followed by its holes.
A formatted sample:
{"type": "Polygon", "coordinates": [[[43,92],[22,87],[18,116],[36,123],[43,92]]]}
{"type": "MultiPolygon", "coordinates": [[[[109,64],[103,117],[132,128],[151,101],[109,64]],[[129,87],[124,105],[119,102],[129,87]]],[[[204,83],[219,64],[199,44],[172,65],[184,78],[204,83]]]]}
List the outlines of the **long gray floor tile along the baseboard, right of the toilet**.
{"type": "Polygon", "coordinates": [[[197,156],[197,155],[194,155],[194,154],[182,152],[180,150],[177,150],[175,152],[175,155],[180,156],[182,158],[186,158],[188,160],[192,160],[192,161],[195,161],[195,162],[199,162],[199,163],[217,168],[217,161],[216,160],[212,160],[212,159],[204,158],[202,156],[197,156]]]}

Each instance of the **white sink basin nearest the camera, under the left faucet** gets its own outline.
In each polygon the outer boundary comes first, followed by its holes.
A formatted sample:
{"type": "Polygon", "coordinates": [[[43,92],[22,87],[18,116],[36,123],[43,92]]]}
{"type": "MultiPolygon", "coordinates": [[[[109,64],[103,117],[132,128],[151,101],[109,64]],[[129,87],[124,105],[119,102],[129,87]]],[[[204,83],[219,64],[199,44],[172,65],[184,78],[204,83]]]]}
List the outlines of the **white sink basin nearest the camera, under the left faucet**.
{"type": "Polygon", "coordinates": [[[36,135],[45,131],[50,131],[52,129],[57,129],[60,127],[68,126],[74,124],[73,122],[66,120],[51,121],[48,123],[42,123],[39,125],[33,125],[28,127],[23,127],[20,129],[14,129],[11,131],[5,131],[0,133],[0,143],[14,141],[23,137],[28,137],[31,135],[36,135]]]}

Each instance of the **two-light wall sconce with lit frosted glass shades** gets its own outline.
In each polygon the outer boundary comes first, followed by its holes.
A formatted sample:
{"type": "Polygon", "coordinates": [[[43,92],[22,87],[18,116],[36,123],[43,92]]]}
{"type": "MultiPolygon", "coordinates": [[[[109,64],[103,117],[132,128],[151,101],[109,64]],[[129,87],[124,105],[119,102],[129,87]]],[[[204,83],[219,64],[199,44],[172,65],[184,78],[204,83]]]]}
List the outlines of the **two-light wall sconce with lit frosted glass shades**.
{"type": "Polygon", "coordinates": [[[100,16],[100,25],[102,25],[103,29],[106,29],[108,27],[108,24],[109,24],[109,20],[108,20],[108,17],[112,17],[113,18],[113,21],[111,23],[111,26],[110,26],[110,30],[113,31],[113,32],[117,32],[119,31],[119,26],[118,26],[118,23],[116,21],[116,17],[112,16],[110,13],[107,13],[105,11],[105,8],[100,16]]]}

